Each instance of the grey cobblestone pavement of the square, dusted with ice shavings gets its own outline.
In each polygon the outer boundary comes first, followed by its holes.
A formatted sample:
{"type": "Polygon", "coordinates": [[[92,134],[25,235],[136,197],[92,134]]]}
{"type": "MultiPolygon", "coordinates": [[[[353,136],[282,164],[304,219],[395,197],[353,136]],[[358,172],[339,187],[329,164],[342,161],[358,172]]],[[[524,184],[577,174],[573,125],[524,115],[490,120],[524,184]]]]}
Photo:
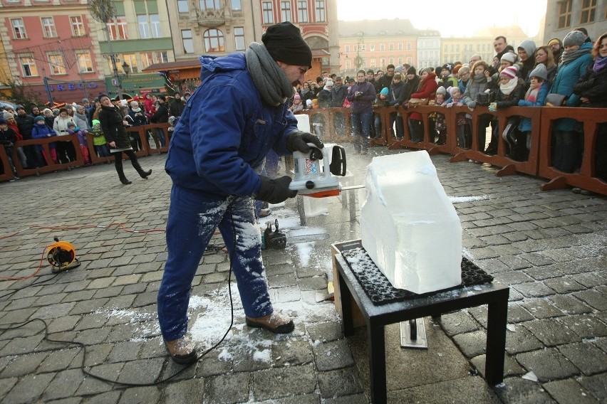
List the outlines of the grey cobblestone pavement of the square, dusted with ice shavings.
{"type": "MultiPolygon", "coordinates": [[[[355,156],[361,184],[374,148],[355,156]]],[[[487,386],[483,307],[426,319],[429,349],[400,349],[398,324],[386,327],[390,403],[606,403],[607,199],[569,190],[542,192],[531,176],[497,177],[497,169],[432,156],[462,220],[465,255],[510,285],[504,385],[487,386]],[[474,198],[475,197],[475,198],[474,198]],[[533,380],[536,378],[537,380],[533,380]],[[530,380],[531,379],[531,380],[530,380]]],[[[332,279],[330,245],[360,238],[341,198],[328,215],[307,219],[311,243],[266,250],[275,307],[296,330],[274,336],[244,325],[232,282],[234,324],[196,365],[167,359],[156,319],[156,292],[167,252],[170,179],[164,155],[141,159],[148,180],[125,164],[130,186],[102,165],[0,184],[1,403],[368,403],[364,329],[344,339],[332,302],[316,302],[332,279]],[[119,224],[118,224],[119,223],[119,224]],[[36,227],[39,226],[39,227],[36,227]],[[135,231],[133,231],[135,230],[135,231]],[[150,231],[158,230],[158,231],[150,231]],[[81,266],[53,275],[43,250],[53,236],[76,248],[81,266]],[[41,256],[43,260],[41,261],[41,256]],[[45,340],[42,321],[51,339],[45,340]]],[[[411,196],[415,198],[415,196],[411,196]]],[[[299,226],[294,201],[269,219],[299,226]]],[[[199,351],[230,326],[229,262],[214,238],[192,288],[190,329],[199,351]]],[[[440,252],[440,245],[436,246],[440,252]]]]}

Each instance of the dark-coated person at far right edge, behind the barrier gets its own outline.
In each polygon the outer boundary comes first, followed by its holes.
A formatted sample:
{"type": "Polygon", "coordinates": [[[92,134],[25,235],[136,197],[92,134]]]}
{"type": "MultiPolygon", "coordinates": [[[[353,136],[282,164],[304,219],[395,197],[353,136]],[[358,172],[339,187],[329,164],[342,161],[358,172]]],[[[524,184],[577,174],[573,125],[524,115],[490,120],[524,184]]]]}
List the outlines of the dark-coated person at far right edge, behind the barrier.
{"type": "MultiPolygon", "coordinates": [[[[580,97],[581,107],[607,108],[607,33],[594,43],[592,56],[594,61],[574,85],[574,94],[580,97]]],[[[594,176],[607,181],[607,123],[598,124],[596,132],[594,176]]]]}

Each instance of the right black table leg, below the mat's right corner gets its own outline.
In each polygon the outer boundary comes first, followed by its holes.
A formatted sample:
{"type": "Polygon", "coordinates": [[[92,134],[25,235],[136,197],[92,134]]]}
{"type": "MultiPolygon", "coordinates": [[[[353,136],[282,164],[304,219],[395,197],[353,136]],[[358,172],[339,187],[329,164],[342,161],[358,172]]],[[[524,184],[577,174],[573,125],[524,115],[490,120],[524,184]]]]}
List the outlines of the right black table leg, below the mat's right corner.
{"type": "Polygon", "coordinates": [[[504,381],[508,297],[491,302],[487,306],[487,357],[484,372],[487,383],[494,386],[504,381]]]}

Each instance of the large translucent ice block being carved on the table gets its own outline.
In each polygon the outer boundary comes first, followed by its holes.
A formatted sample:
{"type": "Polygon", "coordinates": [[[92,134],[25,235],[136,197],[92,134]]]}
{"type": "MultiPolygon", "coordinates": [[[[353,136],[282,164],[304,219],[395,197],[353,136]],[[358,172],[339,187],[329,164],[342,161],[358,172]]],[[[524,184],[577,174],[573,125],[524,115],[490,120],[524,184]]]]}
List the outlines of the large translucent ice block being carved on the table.
{"type": "Polygon", "coordinates": [[[462,225],[427,151],[374,157],[360,212],[363,248],[394,287],[462,282],[462,225]]]}

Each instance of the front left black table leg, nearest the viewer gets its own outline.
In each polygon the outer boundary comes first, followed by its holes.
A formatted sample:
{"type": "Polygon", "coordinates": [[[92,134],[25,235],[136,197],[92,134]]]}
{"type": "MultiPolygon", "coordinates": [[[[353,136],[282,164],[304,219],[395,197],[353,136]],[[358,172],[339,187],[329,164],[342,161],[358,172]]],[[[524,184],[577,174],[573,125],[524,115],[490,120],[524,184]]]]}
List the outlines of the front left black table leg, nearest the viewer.
{"type": "Polygon", "coordinates": [[[371,384],[371,402],[385,403],[387,400],[385,384],[385,340],[383,326],[371,327],[367,324],[369,378],[371,384]]]}

